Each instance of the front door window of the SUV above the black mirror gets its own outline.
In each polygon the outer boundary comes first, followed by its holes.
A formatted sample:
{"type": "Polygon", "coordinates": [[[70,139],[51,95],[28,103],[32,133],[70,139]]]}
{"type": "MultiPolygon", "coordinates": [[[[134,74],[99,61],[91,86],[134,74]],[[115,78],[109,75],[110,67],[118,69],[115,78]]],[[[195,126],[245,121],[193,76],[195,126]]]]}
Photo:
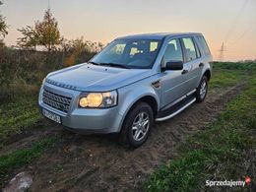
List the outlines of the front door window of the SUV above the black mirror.
{"type": "Polygon", "coordinates": [[[164,63],[168,61],[183,61],[182,49],[178,39],[172,39],[168,42],[163,54],[164,63]]]}

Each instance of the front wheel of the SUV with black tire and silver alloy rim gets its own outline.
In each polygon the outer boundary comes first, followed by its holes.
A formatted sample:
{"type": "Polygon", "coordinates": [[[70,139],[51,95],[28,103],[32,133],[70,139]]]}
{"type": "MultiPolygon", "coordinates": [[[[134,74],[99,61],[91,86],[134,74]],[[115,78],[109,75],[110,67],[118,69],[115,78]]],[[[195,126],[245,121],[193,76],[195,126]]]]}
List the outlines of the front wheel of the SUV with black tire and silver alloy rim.
{"type": "Polygon", "coordinates": [[[139,102],[131,108],[124,119],[119,135],[120,143],[130,149],[140,147],[148,139],[153,125],[154,113],[152,107],[146,102],[139,102]],[[140,121],[140,119],[144,121],[140,121]]]}

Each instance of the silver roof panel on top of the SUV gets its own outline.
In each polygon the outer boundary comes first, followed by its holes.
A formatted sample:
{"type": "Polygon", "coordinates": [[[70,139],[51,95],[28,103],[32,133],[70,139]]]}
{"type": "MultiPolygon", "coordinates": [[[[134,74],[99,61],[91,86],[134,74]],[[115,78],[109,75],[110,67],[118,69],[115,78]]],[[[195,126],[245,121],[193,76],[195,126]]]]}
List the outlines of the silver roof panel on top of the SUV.
{"type": "Polygon", "coordinates": [[[126,35],[121,36],[116,39],[163,39],[166,36],[177,36],[177,35],[195,35],[195,34],[202,34],[200,32],[156,32],[156,33],[141,33],[141,34],[133,34],[133,35],[126,35]]]}

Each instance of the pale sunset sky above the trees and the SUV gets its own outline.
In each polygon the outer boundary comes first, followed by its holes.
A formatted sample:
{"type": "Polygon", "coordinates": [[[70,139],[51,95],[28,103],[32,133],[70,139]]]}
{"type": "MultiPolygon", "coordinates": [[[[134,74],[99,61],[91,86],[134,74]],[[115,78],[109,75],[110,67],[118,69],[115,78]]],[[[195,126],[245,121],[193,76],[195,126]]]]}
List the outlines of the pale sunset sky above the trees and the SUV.
{"type": "Polygon", "coordinates": [[[42,20],[50,5],[62,35],[68,39],[110,42],[135,33],[202,32],[214,60],[256,58],[256,0],[2,0],[8,45],[15,45],[17,29],[42,20]]]}

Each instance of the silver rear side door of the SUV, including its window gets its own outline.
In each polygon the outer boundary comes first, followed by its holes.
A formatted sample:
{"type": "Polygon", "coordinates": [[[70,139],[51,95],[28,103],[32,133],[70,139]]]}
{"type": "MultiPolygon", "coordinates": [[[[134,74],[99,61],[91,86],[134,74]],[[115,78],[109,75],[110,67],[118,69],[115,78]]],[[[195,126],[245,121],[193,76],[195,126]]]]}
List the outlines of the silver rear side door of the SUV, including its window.
{"type": "Polygon", "coordinates": [[[201,63],[201,53],[192,36],[181,38],[181,45],[185,56],[184,69],[186,70],[186,93],[196,89],[202,74],[203,63],[201,63]]]}

